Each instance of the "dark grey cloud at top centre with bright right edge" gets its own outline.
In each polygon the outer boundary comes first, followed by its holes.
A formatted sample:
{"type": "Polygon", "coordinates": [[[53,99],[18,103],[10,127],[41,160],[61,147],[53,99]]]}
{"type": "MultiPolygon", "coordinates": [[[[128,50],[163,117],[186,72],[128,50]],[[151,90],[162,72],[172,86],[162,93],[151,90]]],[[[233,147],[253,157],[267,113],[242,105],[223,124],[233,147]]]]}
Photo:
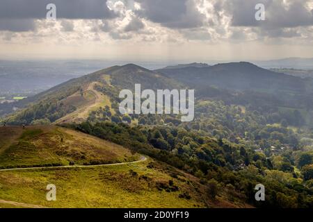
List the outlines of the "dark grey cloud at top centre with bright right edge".
{"type": "Polygon", "coordinates": [[[188,0],[138,0],[138,15],[168,28],[194,28],[202,25],[204,16],[188,0]]]}

